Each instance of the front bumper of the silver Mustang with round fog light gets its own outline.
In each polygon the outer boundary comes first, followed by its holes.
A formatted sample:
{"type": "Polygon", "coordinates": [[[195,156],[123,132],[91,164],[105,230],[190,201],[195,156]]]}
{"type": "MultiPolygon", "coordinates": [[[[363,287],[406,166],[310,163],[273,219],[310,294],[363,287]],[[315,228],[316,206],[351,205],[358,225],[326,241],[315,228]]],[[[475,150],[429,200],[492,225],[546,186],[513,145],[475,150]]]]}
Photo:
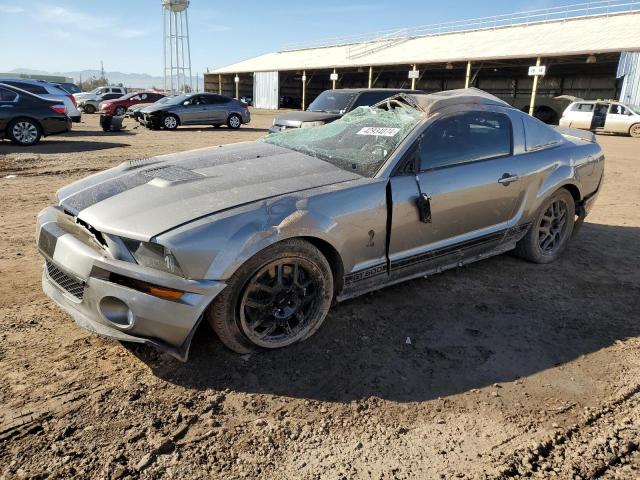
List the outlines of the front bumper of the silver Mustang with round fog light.
{"type": "Polygon", "coordinates": [[[186,361],[195,330],[223,282],[188,280],[113,258],[59,207],[38,215],[44,292],[75,322],[100,336],[151,345],[186,361]],[[132,282],[122,279],[128,279],[132,282]],[[183,291],[166,300],[131,287],[144,282],[183,291]]]}

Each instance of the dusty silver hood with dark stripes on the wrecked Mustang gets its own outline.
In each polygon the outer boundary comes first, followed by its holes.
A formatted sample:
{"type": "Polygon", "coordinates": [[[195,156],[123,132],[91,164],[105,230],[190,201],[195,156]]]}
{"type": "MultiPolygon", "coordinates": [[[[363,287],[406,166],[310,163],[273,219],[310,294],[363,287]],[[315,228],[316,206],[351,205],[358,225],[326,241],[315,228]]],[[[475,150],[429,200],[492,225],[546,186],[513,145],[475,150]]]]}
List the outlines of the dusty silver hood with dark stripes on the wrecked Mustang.
{"type": "Polygon", "coordinates": [[[96,230],[148,241],[222,210],[358,178],[302,153],[245,142],[132,160],[57,195],[96,230]]]}

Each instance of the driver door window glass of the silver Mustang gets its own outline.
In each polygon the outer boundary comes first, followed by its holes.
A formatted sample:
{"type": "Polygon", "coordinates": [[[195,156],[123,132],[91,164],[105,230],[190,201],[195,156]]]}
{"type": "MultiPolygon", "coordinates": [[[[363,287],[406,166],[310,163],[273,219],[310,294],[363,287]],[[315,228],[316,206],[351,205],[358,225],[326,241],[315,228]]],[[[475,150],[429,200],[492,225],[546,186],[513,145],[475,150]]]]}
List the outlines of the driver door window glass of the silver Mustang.
{"type": "Polygon", "coordinates": [[[511,154],[511,121],[502,113],[468,112],[437,120],[421,141],[422,170],[511,154]]]}

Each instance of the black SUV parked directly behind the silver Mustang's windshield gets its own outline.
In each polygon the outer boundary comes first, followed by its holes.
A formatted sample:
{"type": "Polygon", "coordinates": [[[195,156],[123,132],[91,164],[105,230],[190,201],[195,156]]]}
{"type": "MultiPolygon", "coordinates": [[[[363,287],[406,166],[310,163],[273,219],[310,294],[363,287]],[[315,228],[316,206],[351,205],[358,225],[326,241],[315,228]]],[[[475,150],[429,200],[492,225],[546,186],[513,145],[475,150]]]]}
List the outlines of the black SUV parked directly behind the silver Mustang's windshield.
{"type": "Polygon", "coordinates": [[[288,128],[324,125],[337,120],[356,107],[371,106],[398,93],[424,93],[401,88],[342,88],[325,90],[311,102],[304,112],[287,112],[276,117],[269,133],[288,128]]]}

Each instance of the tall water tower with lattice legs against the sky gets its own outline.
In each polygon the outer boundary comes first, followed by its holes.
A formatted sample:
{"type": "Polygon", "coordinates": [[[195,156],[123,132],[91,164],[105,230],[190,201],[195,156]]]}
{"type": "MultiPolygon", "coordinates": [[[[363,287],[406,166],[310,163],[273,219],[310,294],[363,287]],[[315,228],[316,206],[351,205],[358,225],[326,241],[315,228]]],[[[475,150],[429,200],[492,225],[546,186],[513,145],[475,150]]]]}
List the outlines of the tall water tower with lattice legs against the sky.
{"type": "Polygon", "coordinates": [[[189,46],[189,0],[162,0],[164,20],[164,89],[192,90],[189,46]]]}

